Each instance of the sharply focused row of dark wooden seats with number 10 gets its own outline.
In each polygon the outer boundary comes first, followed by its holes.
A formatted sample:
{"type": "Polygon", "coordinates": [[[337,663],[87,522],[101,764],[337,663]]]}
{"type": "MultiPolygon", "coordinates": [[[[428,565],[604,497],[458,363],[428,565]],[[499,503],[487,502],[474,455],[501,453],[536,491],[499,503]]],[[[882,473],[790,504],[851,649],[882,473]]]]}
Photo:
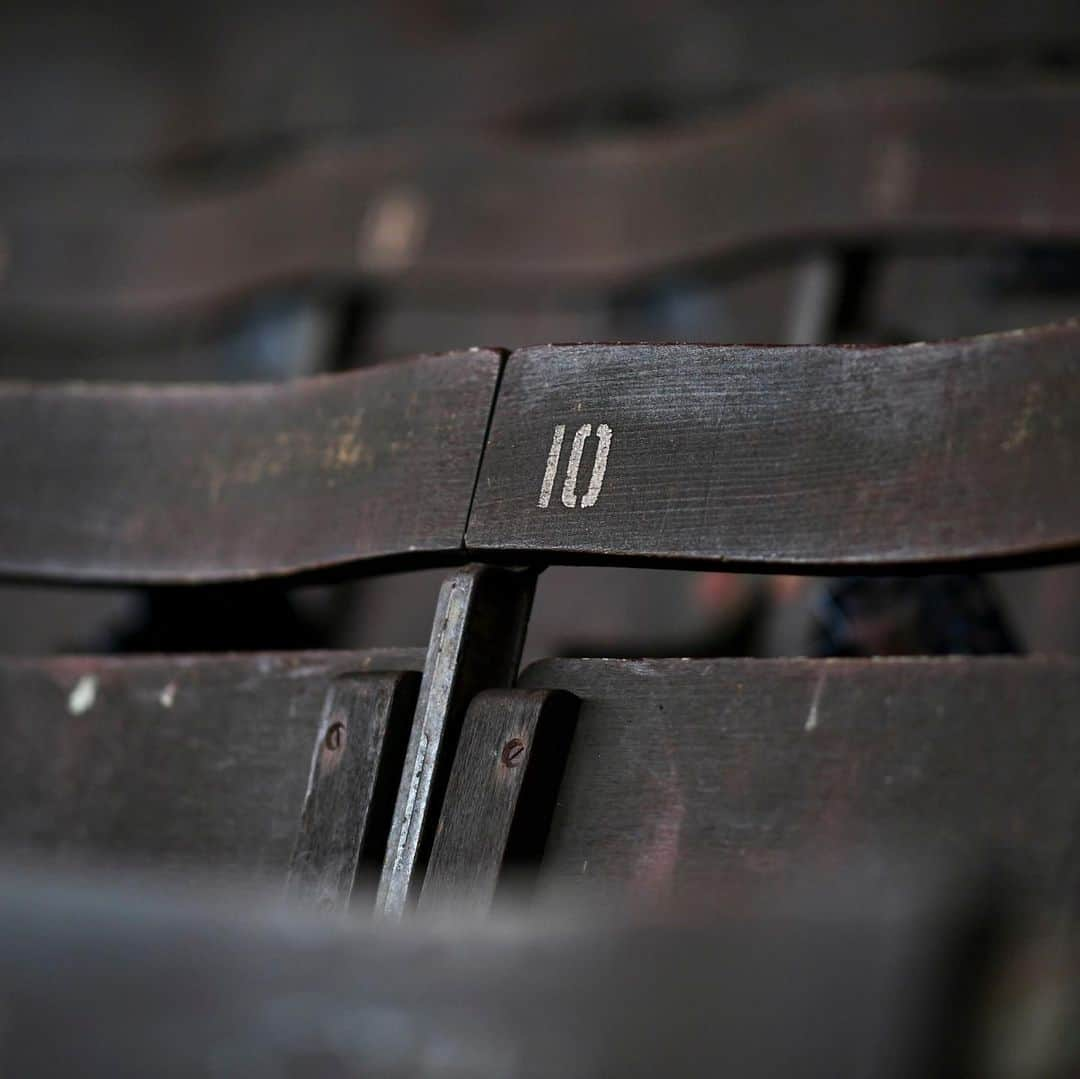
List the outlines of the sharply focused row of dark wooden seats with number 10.
{"type": "Polygon", "coordinates": [[[389,915],[486,906],[518,864],[652,896],[910,848],[1001,852],[1031,894],[1067,893],[1071,659],[517,667],[549,562],[1067,561],[1078,333],[5,387],[9,576],[504,565],[447,578],[424,657],[4,661],[0,835],[287,877],[329,907],[369,874],[389,915]]]}

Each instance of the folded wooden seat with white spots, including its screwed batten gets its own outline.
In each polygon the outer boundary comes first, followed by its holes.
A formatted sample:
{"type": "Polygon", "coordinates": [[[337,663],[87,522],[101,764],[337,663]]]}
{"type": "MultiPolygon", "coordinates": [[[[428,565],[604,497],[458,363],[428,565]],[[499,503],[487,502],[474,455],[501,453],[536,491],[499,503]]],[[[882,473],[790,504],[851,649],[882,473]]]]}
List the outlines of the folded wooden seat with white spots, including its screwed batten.
{"type": "Polygon", "coordinates": [[[343,842],[355,874],[386,842],[422,665],[407,649],[2,660],[0,845],[284,881],[343,842]]]}

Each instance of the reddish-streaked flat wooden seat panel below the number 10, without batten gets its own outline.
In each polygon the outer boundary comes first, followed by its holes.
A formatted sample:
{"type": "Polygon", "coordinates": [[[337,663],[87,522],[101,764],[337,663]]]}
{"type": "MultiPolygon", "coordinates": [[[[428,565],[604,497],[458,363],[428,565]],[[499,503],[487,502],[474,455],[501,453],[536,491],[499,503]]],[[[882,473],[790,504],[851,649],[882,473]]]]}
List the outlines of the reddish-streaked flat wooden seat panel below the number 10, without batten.
{"type": "Polygon", "coordinates": [[[900,853],[1075,894],[1076,660],[548,660],[521,684],[581,701],[545,887],[714,894],[900,853]]]}

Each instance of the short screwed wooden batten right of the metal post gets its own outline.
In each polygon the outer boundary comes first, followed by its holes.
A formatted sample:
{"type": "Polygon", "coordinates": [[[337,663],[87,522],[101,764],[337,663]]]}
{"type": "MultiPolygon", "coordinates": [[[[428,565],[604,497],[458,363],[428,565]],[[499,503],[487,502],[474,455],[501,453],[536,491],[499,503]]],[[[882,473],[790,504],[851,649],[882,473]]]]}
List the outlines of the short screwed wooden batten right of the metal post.
{"type": "Polygon", "coordinates": [[[539,861],[577,701],[548,690],[473,698],[443,799],[419,908],[487,909],[505,869],[539,861]]]}

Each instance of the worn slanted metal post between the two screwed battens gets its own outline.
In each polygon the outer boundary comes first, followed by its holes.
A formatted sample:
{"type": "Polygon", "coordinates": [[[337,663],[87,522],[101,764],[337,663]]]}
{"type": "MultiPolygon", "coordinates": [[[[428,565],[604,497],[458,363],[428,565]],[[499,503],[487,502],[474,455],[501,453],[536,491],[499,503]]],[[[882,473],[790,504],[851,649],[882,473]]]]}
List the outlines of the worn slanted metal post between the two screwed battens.
{"type": "Polygon", "coordinates": [[[467,566],[440,590],[376,896],[383,916],[402,917],[419,894],[465,710],[513,684],[535,589],[534,570],[467,566]]]}

